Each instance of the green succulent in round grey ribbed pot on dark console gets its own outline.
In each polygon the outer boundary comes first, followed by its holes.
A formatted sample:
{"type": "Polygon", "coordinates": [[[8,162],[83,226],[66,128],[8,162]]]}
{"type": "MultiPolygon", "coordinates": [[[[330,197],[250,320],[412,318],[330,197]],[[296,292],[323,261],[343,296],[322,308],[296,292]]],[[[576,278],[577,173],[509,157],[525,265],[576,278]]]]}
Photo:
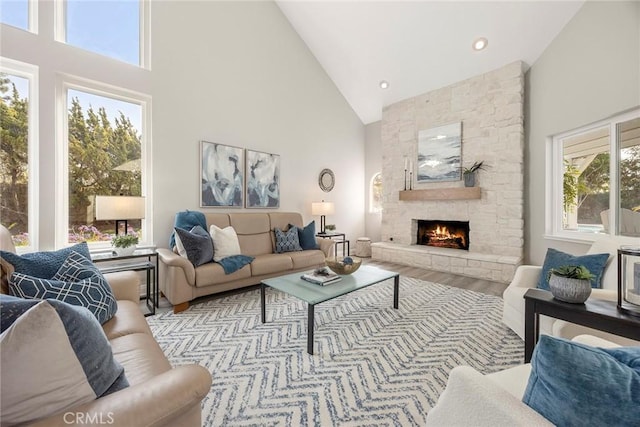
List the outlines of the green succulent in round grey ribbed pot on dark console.
{"type": "Polygon", "coordinates": [[[549,289],[555,299],[582,304],[591,295],[594,277],[584,265],[563,265],[549,270],[549,289]]]}

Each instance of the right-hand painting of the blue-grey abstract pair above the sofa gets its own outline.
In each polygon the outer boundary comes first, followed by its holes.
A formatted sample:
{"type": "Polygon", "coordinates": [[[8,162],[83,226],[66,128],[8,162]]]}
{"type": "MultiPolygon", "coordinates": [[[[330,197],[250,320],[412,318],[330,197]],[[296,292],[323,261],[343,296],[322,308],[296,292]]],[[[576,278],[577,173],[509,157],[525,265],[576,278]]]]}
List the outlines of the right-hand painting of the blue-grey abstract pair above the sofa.
{"type": "Polygon", "coordinates": [[[247,150],[247,208],[280,207],[280,156],[247,150]]]}

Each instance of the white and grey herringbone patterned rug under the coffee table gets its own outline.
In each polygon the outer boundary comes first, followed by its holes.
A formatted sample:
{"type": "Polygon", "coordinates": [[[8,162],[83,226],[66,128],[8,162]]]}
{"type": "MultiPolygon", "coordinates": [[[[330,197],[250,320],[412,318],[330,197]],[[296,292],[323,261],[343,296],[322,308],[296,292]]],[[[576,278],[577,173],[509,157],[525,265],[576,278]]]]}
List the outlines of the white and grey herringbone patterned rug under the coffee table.
{"type": "Polygon", "coordinates": [[[316,306],[315,355],[306,304],[267,288],[147,318],[170,362],[213,375],[208,426],[421,426],[449,371],[489,373],[522,363],[501,322],[502,299],[402,277],[316,306]]]}

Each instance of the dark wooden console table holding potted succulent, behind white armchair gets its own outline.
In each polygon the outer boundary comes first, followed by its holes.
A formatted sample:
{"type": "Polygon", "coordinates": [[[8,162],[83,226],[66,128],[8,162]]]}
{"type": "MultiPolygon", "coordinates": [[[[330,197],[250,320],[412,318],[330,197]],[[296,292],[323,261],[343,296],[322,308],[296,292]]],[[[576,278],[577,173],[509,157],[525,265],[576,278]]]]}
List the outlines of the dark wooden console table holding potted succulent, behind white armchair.
{"type": "Polygon", "coordinates": [[[541,314],[640,341],[640,318],[620,312],[613,301],[590,298],[584,304],[571,304],[542,289],[529,289],[524,301],[525,363],[531,361],[538,342],[541,314]]]}

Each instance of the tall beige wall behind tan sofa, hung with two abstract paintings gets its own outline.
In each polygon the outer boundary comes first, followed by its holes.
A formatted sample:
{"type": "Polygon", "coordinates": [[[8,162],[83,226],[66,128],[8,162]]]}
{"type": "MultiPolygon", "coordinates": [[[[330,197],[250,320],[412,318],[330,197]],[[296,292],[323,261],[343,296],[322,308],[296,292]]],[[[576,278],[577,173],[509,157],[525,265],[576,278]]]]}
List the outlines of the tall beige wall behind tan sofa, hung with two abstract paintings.
{"type": "Polygon", "coordinates": [[[333,201],[327,222],[363,235],[364,126],[276,4],[162,1],[151,14],[156,244],[167,246],[177,211],[205,210],[200,140],[279,154],[281,211],[319,228],[311,202],[333,201]]]}

